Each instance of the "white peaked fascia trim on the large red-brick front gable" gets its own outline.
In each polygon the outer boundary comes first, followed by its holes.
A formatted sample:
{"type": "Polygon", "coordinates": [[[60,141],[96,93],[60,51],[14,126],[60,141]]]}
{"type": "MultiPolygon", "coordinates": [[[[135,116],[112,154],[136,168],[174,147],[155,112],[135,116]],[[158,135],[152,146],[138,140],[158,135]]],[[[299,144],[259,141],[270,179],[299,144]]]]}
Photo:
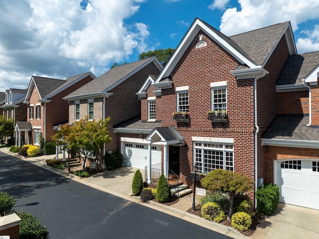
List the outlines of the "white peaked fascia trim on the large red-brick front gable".
{"type": "Polygon", "coordinates": [[[246,58],[243,54],[237,51],[231,44],[229,44],[226,40],[222,39],[219,35],[217,35],[214,31],[212,31],[209,27],[207,27],[201,20],[198,18],[193,22],[193,24],[189,27],[186,34],[178,44],[175,49],[173,55],[169,58],[163,70],[160,72],[159,77],[155,81],[157,84],[160,79],[168,77],[170,72],[173,70],[190,42],[194,39],[197,32],[199,30],[203,30],[208,36],[210,36],[214,41],[216,41],[219,45],[221,45],[225,50],[227,50],[232,56],[234,56],[239,62],[242,64],[247,64],[250,68],[255,68],[256,64],[246,58]]]}

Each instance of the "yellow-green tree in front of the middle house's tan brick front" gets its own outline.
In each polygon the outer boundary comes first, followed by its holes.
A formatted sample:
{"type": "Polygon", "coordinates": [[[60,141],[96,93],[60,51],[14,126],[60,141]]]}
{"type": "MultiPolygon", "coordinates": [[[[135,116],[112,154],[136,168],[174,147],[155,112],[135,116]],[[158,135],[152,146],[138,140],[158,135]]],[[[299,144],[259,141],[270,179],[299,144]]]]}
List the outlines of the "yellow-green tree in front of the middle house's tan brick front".
{"type": "Polygon", "coordinates": [[[109,136],[108,123],[110,117],[105,120],[95,119],[89,120],[89,116],[76,121],[73,126],[64,125],[56,134],[52,136],[52,140],[58,146],[69,151],[77,151],[78,156],[83,158],[83,170],[85,170],[85,162],[93,153],[97,153],[96,159],[99,165],[102,165],[104,144],[111,141],[109,136]]]}

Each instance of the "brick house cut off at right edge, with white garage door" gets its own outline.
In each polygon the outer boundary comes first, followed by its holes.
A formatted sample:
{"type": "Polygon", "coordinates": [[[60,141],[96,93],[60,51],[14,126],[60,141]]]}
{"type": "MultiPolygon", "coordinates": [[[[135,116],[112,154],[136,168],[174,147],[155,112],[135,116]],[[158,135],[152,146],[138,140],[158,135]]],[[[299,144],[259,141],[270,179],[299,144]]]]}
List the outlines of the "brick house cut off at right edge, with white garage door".
{"type": "Polygon", "coordinates": [[[264,181],[280,201],[319,209],[319,51],[289,57],[277,81],[278,117],[263,135],[264,181]],[[311,110],[309,110],[311,109],[311,110]]]}

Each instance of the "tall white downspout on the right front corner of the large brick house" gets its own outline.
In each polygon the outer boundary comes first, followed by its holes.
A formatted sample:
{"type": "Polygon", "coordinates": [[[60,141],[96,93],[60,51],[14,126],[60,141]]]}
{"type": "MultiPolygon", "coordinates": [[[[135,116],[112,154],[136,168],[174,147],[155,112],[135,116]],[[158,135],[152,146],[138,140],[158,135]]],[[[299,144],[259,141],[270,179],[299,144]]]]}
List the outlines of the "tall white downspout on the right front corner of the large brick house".
{"type": "Polygon", "coordinates": [[[257,200],[256,200],[256,191],[257,191],[257,186],[258,186],[258,167],[257,167],[257,162],[258,162],[258,147],[257,147],[257,138],[258,138],[258,132],[259,132],[259,127],[257,124],[257,79],[265,76],[265,71],[262,72],[261,75],[256,76],[254,79],[254,101],[255,101],[255,127],[256,127],[256,132],[255,132],[255,207],[257,207],[257,200]]]}

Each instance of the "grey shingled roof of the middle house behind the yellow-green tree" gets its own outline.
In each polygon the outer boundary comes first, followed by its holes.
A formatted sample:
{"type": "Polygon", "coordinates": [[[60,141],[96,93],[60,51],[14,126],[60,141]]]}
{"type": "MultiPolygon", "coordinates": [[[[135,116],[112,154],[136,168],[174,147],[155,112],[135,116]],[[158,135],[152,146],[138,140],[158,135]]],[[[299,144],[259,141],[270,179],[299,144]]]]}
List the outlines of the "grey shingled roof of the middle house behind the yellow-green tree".
{"type": "Polygon", "coordinates": [[[123,78],[128,76],[131,72],[135,71],[143,64],[147,63],[148,61],[151,62],[153,60],[154,57],[151,57],[148,59],[143,59],[132,63],[113,67],[111,70],[105,72],[96,79],[92,80],[91,82],[87,83],[86,85],[82,86],[81,88],[77,89],[71,94],[67,95],[65,98],[101,93],[109,87],[111,87],[112,85],[121,81],[123,78]]]}

